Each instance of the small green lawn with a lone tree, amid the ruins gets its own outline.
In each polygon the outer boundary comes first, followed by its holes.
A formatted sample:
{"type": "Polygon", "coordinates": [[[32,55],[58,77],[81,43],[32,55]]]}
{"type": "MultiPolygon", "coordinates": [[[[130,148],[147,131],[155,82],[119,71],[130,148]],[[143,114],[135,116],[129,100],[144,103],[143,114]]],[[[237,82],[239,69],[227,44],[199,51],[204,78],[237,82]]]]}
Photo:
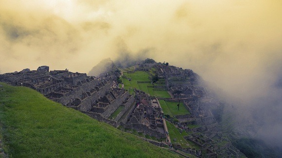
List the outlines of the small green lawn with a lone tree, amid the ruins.
{"type": "Polygon", "coordinates": [[[179,111],[177,107],[178,102],[159,100],[159,104],[163,110],[163,113],[168,114],[171,117],[173,117],[174,115],[190,114],[190,112],[187,111],[187,109],[184,107],[183,103],[179,104],[179,111]]]}

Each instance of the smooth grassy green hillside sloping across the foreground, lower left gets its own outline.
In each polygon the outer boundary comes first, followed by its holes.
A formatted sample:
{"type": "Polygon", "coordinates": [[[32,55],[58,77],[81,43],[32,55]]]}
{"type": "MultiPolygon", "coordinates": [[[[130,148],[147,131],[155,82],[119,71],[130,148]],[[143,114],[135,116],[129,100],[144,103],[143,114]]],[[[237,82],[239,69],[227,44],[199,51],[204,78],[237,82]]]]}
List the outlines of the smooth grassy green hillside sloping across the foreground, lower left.
{"type": "Polygon", "coordinates": [[[0,84],[0,140],[11,157],[178,157],[32,89],[0,84]]]}

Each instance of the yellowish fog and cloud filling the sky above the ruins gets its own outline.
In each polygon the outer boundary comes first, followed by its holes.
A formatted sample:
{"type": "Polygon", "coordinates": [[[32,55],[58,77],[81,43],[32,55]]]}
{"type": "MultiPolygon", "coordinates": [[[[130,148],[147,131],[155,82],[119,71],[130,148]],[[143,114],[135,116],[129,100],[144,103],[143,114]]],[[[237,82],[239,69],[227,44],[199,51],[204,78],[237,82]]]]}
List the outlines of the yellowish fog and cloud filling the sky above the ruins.
{"type": "Polygon", "coordinates": [[[238,98],[263,118],[258,136],[277,140],[281,8],[280,0],[0,0],[0,70],[88,73],[128,54],[165,61],[238,98]]]}

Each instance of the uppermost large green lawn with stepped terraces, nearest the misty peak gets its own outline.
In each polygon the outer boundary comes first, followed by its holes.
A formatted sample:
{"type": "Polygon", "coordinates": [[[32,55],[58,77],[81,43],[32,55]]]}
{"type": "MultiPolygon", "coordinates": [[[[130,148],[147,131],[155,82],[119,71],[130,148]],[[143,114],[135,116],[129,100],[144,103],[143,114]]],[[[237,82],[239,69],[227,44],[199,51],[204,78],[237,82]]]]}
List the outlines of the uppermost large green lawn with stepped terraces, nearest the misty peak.
{"type": "MultiPolygon", "coordinates": [[[[148,72],[136,71],[134,73],[123,72],[122,81],[124,84],[124,89],[129,91],[129,94],[134,93],[134,88],[139,89],[151,96],[156,96],[160,98],[170,98],[171,96],[165,89],[155,89],[154,84],[151,84],[150,76],[154,75],[151,69],[148,72]]],[[[156,85],[165,85],[164,80],[155,83],[156,85]]]]}

